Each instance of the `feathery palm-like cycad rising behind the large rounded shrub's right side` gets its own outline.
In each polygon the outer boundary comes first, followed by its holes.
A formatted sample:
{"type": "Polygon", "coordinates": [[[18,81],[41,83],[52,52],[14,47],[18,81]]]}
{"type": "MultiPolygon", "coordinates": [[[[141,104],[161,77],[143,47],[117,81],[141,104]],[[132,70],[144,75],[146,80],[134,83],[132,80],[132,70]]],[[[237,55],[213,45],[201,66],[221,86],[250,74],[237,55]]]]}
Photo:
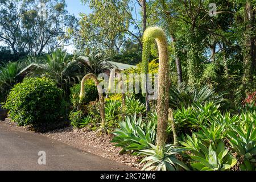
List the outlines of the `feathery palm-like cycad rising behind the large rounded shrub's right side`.
{"type": "Polygon", "coordinates": [[[66,94],[68,94],[69,86],[79,81],[81,75],[84,74],[84,67],[80,61],[69,59],[67,52],[62,49],[56,49],[47,55],[44,62],[35,64],[34,74],[55,80],[66,94]]]}

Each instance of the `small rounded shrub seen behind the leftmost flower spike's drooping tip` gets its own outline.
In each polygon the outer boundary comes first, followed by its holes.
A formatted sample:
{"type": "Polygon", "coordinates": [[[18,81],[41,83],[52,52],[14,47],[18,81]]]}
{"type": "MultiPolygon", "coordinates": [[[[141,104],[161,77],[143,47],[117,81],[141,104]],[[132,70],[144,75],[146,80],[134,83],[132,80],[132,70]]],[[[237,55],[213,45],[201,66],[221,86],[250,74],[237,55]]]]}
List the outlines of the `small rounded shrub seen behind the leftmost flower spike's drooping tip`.
{"type": "MultiPolygon", "coordinates": [[[[74,108],[79,105],[79,94],[80,94],[80,84],[76,84],[71,88],[70,100],[74,108]]],[[[89,104],[90,101],[95,101],[98,98],[98,90],[94,81],[89,79],[85,81],[85,97],[82,100],[82,105],[89,104]]]]}

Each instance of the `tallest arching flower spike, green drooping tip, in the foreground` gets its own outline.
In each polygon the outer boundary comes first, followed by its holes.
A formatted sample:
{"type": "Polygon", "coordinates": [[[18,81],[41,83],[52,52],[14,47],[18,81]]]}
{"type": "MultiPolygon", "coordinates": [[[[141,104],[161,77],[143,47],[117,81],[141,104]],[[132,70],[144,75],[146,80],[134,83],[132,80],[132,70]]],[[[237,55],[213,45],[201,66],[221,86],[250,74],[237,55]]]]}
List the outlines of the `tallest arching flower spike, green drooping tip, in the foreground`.
{"type": "Polygon", "coordinates": [[[167,38],[164,31],[158,27],[148,27],[143,34],[143,52],[142,52],[142,67],[144,73],[148,73],[148,60],[150,57],[151,43],[156,41],[159,53],[159,68],[158,68],[158,130],[157,130],[157,145],[163,147],[167,140],[167,125],[168,125],[168,98],[169,98],[169,61],[167,50],[167,38]]]}

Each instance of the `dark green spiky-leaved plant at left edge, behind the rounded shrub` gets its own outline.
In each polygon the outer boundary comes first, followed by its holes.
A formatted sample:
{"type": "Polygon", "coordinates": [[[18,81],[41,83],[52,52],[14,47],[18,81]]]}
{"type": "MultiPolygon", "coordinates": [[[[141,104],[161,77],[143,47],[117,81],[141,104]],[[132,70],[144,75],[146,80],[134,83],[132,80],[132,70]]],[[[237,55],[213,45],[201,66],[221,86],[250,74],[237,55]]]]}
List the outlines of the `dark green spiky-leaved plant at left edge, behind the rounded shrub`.
{"type": "Polygon", "coordinates": [[[18,82],[18,73],[20,64],[18,62],[9,62],[0,67],[0,102],[5,101],[10,89],[18,82]]]}

